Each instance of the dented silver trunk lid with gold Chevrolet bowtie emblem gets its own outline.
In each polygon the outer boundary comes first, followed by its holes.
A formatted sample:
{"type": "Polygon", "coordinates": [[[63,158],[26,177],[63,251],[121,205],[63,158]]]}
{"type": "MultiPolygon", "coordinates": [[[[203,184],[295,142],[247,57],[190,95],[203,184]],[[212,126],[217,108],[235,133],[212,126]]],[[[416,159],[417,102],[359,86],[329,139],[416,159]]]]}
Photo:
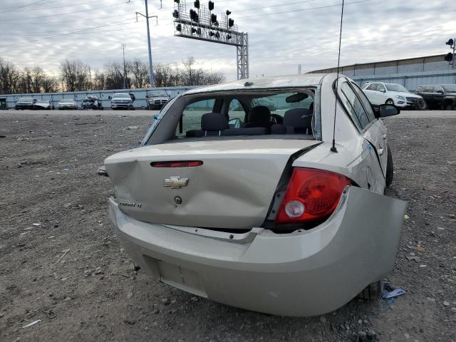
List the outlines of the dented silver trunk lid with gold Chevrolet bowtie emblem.
{"type": "MultiPolygon", "coordinates": [[[[315,140],[172,142],[105,160],[120,209],[144,222],[219,229],[259,227],[291,155],[315,140]],[[195,167],[155,162],[200,161],[195,167]]],[[[299,154],[299,153],[298,153],[299,154]]]]}

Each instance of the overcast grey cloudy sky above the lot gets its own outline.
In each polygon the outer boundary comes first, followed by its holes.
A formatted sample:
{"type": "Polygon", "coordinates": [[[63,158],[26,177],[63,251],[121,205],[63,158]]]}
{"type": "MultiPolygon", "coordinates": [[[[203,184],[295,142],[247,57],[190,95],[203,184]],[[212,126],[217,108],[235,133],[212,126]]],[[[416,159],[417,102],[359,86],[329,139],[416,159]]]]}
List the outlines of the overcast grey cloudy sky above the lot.
{"type": "MultiPolygon", "coordinates": [[[[184,1],[184,0],[181,0],[184,1]]],[[[447,53],[456,35],[454,0],[346,0],[341,64],[447,53]],[[351,4],[353,3],[353,4],[351,4]]],[[[201,1],[204,4],[207,1],[201,1]]],[[[249,33],[250,76],[271,76],[336,66],[341,0],[214,0],[249,33]]],[[[236,78],[234,46],[174,36],[172,0],[149,0],[154,63],[198,65],[236,78]]],[[[64,58],[101,69],[108,61],[147,61],[146,26],[135,12],[144,0],[1,0],[0,57],[20,68],[57,73],[64,58]]],[[[192,1],[187,1],[187,9],[192,1]]]]}

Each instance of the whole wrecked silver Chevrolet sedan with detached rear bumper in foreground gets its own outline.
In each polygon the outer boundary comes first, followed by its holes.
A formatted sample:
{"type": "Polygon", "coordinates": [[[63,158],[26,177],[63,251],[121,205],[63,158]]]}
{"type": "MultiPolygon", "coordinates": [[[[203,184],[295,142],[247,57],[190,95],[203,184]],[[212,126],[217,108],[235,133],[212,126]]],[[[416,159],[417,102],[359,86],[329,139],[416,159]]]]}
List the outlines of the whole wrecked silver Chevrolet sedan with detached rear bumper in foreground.
{"type": "Polygon", "coordinates": [[[336,81],[234,81],[167,103],[142,147],[99,170],[133,260],[178,289],[283,316],[325,314],[378,289],[406,207],[383,195],[393,161],[380,118],[399,110],[375,112],[344,76],[336,105],[336,81]]]}

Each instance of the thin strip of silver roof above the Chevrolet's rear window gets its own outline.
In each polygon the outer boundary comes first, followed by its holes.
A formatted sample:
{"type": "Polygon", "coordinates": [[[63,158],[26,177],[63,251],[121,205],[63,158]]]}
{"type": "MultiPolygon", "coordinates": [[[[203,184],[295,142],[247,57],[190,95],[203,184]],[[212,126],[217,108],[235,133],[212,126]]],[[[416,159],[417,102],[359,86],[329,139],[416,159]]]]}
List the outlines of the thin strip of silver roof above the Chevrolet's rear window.
{"type": "Polygon", "coordinates": [[[198,93],[212,93],[225,90],[268,89],[268,88],[299,88],[304,86],[318,86],[328,73],[304,73],[301,75],[269,76],[261,78],[247,78],[238,81],[220,83],[188,90],[185,95],[198,93]],[[246,86],[246,83],[252,83],[246,86]]]}

